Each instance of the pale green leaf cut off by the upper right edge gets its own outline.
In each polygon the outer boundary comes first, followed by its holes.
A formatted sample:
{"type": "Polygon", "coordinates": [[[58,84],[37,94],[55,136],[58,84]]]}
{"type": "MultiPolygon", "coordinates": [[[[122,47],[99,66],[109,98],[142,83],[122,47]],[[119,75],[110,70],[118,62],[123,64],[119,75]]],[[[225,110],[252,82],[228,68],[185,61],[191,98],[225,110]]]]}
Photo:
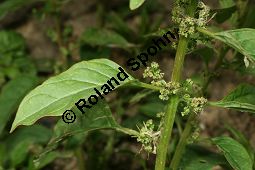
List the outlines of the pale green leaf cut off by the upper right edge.
{"type": "Polygon", "coordinates": [[[255,62],[255,29],[242,28],[214,33],[214,38],[233,47],[250,61],[255,62]]]}

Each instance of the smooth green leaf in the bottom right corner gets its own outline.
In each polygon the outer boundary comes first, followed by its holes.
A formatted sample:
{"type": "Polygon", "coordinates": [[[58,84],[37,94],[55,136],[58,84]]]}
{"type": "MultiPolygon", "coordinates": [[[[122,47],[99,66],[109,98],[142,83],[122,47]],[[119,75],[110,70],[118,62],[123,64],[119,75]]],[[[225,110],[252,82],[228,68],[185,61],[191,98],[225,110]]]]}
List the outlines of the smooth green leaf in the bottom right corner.
{"type": "Polygon", "coordinates": [[[230,137],[217,137],[212,141],[235,170],[252,170],[252,160],[240,143],[230,137]]]}

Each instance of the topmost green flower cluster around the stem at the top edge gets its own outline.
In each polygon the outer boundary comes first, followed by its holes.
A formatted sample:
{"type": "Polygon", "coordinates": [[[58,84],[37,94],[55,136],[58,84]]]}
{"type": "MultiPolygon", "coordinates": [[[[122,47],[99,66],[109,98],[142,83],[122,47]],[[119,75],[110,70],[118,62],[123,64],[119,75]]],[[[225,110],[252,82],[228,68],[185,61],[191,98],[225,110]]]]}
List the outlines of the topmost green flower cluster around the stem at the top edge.
{"type": "Polygon", "coordinates": [[[179,34],[188,37],[195,33],[195,27],[205,27],[210,16],[210,8],[202,1],[198,3],[198,18],[192,18],[185,13],[185,0],[177,0],[172,10],[172,21],[179,25],[179,34]]]}

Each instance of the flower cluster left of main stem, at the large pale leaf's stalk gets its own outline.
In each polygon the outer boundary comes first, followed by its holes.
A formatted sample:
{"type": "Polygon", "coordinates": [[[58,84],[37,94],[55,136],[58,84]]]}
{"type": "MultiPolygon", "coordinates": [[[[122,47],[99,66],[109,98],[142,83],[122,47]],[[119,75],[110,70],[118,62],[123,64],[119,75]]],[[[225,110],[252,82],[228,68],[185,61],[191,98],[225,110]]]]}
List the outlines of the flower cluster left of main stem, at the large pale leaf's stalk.
{"type": "Polygon", "coordinates": [[[156,62],[152,62],[151,66],[147,67],[143,74],[144,78],[149,77],[153,79],[151,84],[161,88],[159,98],[161,100],[168,100],[169,95],[179,92],[181,85],[176,82],[166,82],[163,80],[163,76],[164,73],[161,73],[159,65],[156,62]]]}

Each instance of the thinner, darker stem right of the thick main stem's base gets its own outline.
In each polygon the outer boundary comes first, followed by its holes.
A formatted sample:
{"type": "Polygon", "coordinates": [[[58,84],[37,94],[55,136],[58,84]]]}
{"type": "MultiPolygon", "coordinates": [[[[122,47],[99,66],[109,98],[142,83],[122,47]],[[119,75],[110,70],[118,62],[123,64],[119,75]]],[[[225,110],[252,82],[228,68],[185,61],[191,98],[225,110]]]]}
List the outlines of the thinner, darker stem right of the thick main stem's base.
{"type": "Polygon", "coordinates": [[[171,170],[177,170],[177,168],[178,168],[178,165],[181,161],[181,156],[185,150],[187,139],[190,136],[190,132],[192,129],[192,122],[195,120],[195,118],[196,118],[195,113],[192,113],[188,118],[188,122],[185,125],[184,131],[183,131],[180,141],[176,147],[176,150],[175,150],[175,153],[174,153],[171,165],[170,165],[171,170]]]}

